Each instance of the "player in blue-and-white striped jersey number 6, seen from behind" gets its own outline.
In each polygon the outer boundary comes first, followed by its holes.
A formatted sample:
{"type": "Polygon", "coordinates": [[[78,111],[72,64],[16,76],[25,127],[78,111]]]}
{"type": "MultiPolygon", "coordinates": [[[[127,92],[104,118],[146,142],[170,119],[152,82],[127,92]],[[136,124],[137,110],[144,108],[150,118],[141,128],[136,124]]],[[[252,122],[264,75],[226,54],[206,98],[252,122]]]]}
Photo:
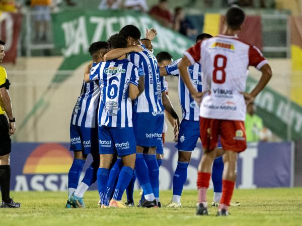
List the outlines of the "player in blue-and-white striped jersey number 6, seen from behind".
{"type": "MultiPolygon", "coordinates": [[[[119,34],[108,40],[110,49],[127,47],[127,40],[119,34]]],[[[101,208],[126,208],[122,195],[128,186],[135,166],[136,141],[132,127],[132,103],[139,94],[138,81],[142,73],[122,55],[117,59],[101,62],[95,66],[85,81],[100,81],[99,104],[99,152],[100,167],[97,173],[101,208]],[[113,155],[121,157],[120,170],[113,198],[108,202],[107,183],[113,155]]]]}

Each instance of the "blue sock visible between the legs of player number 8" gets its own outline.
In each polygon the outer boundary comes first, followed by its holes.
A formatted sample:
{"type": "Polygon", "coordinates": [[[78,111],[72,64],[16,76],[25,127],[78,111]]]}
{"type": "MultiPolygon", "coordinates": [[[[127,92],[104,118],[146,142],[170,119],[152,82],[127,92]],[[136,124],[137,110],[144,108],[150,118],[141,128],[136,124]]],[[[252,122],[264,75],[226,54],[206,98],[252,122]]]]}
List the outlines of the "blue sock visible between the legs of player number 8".
{"type": "Polygon", "coordinates": [[[214,185],[214,192],[222,192],[222,172],[223,172],[222,156],[216,158],[213,162],[212,181],[214,185]]]}

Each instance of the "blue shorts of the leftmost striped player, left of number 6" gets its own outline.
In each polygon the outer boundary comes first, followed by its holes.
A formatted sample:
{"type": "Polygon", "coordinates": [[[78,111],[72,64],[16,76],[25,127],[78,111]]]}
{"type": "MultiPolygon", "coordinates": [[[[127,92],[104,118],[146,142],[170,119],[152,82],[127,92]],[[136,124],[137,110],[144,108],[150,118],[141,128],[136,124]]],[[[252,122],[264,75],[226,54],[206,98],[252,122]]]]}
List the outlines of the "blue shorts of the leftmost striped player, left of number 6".
{"type": "Polygon", "coordinates": [[[98,141],[98,128],[70,124],[70,151],[83,151],[84,154],[98,153],[98,141]]]}

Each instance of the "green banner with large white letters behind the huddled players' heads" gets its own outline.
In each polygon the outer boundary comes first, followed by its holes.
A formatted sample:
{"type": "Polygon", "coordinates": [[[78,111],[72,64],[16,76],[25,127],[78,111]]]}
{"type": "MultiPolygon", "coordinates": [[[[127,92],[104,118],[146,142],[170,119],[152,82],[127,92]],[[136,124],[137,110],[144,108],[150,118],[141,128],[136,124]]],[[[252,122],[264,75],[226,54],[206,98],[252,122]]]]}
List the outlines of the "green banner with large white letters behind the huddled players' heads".
{"type": "Polygon", "coordinates": [[[194,44],[192,40],[161,26],[148,15],[135,11],[65,11],[54,14],[52,23],[55,46],[61,49],[65,58],[60,70],[73,70],[90,60],[88,48],[91,43],[107,41],[109,36],[128,24],[137,26],[142,38],[146,28],[157,30],[158,35],[153,41],[155,54],[167,51],[180,58],[194,44]]]}

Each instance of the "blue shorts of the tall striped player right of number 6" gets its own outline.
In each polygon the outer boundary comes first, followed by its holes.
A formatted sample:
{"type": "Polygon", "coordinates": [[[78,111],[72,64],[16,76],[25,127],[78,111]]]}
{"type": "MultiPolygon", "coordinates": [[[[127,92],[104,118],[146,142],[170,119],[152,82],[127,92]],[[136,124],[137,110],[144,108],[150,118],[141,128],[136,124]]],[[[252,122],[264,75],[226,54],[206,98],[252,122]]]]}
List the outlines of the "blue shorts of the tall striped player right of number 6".
{"type": "Polygon", "coordinates": [[[132,116],[136,145],[142,147],[159,147],[163,144],[163,114],[154,112],[134,112],[132,116]]]}

